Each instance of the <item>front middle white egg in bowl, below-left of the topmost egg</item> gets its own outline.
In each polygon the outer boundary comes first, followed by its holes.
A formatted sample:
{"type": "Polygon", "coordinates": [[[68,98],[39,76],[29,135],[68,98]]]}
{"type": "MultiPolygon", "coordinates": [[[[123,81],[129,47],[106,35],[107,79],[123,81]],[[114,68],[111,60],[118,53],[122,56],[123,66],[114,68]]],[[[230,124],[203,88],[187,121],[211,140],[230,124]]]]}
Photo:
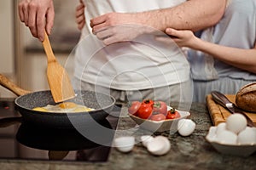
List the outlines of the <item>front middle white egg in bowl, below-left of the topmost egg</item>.
{"type": "Polygon", "coordinates": [[[224,130],[218,133],[217,140],[220,144],[236,144],[237,135],[229,130],[224,130]]]}

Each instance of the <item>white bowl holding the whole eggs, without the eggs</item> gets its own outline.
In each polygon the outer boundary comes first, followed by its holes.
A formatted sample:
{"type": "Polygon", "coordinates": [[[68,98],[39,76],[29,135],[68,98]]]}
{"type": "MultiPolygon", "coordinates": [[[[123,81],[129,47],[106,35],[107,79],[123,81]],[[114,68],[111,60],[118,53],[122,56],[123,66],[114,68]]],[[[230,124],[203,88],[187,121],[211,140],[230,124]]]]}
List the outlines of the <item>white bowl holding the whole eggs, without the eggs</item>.
{"type": "Polygon", "coordinates": [[[256,151],[256,144],[220,144],[216,140],[217,127],[210,127],[207,134],[207,141],[218,150],[218,152],[231,156],[250,156],[256,151]]]}

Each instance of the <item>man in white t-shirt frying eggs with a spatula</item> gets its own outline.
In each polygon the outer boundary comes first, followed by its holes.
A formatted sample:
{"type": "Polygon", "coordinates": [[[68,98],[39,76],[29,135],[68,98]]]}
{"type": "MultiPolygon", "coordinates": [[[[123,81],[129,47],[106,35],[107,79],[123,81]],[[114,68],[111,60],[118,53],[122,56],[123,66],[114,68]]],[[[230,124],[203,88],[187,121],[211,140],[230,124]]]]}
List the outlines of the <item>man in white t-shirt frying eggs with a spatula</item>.
{"type": "MultiPolygon", "coordinates": [[[[86,26],[76,48],[74,87],[109,93],[121,101],[191,101],[187,59],[174,43],[167,47],[154,37],[165,36],[162,31],[166,27],[196,31],[214,25],[225,6],[224,0],[216,1],[84,0],[86,26]]],[[[52,0],[38,6],[42,8],[27,8],[29,4],[21,1],[20,20],[42,41],[42,22],[38,20],[42,20],[40,14],[46,16],[49,33],[52,0]]]]}

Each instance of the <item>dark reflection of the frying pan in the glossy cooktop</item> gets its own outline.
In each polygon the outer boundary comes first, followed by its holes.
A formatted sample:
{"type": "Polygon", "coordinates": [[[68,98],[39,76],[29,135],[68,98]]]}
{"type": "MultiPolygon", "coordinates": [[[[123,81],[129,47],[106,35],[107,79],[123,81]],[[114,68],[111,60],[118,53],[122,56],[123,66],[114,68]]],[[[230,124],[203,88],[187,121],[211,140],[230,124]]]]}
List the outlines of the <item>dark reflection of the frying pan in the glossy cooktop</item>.
{"type": "MultiPolygon", "coordinates": [[[[102,120],[100,123],[103,127],[112,129],[107,119],[102,120]]],[[[109,133],[108,136],[101,133],[98,135],[101,136],[101,141],[106,141],[106,143],[111,144],[113,133],[109,133]]],[[[87,139],[74,128],[52,128],[48,130],[48,128],[30,126],[26,123],[21,123],[16,134],[16,139],[20,144],[38,150],[87,150],[101,145],[87,139]]]]}

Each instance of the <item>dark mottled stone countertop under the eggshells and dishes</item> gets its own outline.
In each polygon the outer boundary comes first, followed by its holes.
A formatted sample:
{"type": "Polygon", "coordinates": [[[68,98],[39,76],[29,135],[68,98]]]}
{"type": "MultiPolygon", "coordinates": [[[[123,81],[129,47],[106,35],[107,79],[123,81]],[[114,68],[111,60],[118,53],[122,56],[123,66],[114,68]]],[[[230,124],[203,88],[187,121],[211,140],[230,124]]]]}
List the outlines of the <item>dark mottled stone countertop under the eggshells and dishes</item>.
{"type": "MultiPolygon", "coordinates": [[[[125,111],[124,111],[125,112],[125,111]]],[[[107,162],[63,162],[63,161],[14,161],[1,160],[3,169],[255,169],[256,153],[246,158],[219,154],[205,136],[212,126],[211,118],[204,104],[192,104],[190,118],[196,123],[195,131],[189,137],[178,133],[154,133],[164,135],[171,141],[171,150],[165,156],[153,156],[137,143],[130,153],[111,150],[107,162]]],[[[116,135],[133,134],[139,137],[148,132],[136,128],[130,117],[122,115],[116,135]],[[134,128],[135,127],[135,128],[134,128]]]]}

